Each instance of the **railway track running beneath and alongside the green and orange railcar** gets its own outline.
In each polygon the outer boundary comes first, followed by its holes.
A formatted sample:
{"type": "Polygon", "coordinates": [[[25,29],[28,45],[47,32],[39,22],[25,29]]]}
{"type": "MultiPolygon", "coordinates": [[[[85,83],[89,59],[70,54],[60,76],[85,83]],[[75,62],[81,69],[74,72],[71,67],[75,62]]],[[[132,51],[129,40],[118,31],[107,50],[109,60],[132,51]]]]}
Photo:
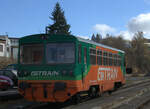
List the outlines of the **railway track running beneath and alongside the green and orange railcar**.
{"type": "MultiPolygon", "coordinates": [[[[104,93],[102,97],[90,99],[86,98],[81,101],[81,103],[77,105],[73,105],[70,102],[66,103],[29,103],[29,105],[24,105],[20,103],[16,105],[13,109],[97,109],[98,107],[101,109],[109,109],[114,106],[115,101],[123,101],[126,96],[134,95],[135,93],[139,93],[145,87],[150,87],[150,80],[146,80],[143,82],[137,82],[132,85],[124,86],[116,92],[113,92],[111,96],[104,93]],[[113,102],[112,102],[113,101],[113,102]],[[90,106],[88,106],[90,105],[90,106]]],[[[8,108],[9,109],[9,108],[8,108]]],[[[141,108],[138,108],[141,109],[141,108]]]]}

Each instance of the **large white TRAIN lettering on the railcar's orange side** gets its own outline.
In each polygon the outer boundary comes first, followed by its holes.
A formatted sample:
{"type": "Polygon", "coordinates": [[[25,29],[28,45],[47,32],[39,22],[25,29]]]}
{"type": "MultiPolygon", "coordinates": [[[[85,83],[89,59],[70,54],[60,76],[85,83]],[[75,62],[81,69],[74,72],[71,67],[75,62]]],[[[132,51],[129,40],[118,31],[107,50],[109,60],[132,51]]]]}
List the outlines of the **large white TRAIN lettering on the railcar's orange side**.
{"type": "Polygon", "coordinates": [[[118,70],[112,68],[98,68],[98,81],[114,80],[117,78],[118,70]]]}

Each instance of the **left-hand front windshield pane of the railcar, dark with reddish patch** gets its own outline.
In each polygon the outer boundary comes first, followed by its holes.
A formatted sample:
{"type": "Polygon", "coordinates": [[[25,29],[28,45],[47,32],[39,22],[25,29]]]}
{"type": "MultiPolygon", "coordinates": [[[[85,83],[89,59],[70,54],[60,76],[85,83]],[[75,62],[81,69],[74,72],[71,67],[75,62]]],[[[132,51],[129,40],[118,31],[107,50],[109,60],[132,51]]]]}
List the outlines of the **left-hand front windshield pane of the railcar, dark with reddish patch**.
{"type": "Polygon", "coordinates": [[[40,64],[43,60],[43,45],[22,45],[20,50],[21,64],[40,64]]]}

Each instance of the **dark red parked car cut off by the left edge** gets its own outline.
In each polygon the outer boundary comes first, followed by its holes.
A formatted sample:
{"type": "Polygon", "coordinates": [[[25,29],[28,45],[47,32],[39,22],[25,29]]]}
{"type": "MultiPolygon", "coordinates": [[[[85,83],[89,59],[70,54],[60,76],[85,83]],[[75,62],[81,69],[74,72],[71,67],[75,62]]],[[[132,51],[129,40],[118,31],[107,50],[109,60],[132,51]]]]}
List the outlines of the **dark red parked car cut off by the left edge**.
{"type": "Polygon", "coordinates": [[[0,90],[8,90],[13,87],[13,81],[6,76],[0,76],[0,90]]]}

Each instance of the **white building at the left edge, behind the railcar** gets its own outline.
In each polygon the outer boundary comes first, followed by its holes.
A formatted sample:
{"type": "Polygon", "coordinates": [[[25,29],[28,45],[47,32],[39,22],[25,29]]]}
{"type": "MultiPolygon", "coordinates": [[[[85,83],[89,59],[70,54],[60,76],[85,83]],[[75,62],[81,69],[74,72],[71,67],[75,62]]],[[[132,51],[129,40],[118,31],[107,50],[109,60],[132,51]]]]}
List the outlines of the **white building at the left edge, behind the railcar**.
{"type": "Polygon", "coordinates": [[[19,38],[0,35],[0,57],[17,59],[19,38]]]}

